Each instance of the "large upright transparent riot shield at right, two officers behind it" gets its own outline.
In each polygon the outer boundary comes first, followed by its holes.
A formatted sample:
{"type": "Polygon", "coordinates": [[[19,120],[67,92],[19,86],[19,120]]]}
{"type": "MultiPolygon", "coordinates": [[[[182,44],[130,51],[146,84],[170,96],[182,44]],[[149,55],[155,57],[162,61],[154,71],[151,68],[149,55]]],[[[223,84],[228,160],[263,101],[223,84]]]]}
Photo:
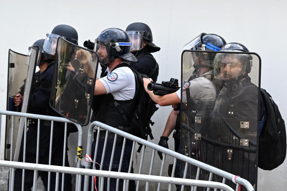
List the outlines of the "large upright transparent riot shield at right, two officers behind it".
{"type": "MultiPolygon", "coordinates": [[[[181,154],[239,175],[256,187],[260,57],[185,50],[181,61],[181,154]],[[194,73],[198,78],[188,81],[194,73]]],[[[196,174],[197,167],[189,166],[187,178],[196,179],[196,174]]],[[[200,170],[198,178],[222,182],[209,175],[200,170]]],[[[235,189],[232,181],[226,183],[235,189]]]]}

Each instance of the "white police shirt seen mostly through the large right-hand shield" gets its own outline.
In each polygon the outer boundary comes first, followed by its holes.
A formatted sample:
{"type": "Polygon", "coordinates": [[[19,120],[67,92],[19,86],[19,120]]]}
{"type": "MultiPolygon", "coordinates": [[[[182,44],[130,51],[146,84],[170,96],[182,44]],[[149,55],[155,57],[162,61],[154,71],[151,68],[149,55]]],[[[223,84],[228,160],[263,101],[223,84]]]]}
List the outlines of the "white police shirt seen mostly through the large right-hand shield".
{"type": "MultiPolygon", "coordinates": [[[[206,74],[212,74],[213,71],[209,71],[206,74]]],[[[184,82],[182,84],[182,89],[185,90],[189,88],[190,98],[192,98],[194,103],[198,100],[215,100],[216,98],[216,87],[210,79],[200,76],[191,81],[184,82]]],[[[180,98],[181,88],[177,90],[176,94],[180,98]]],[[[185,103],[187,100],[186,91],[182,93],[182,102],[185,103]]]]}

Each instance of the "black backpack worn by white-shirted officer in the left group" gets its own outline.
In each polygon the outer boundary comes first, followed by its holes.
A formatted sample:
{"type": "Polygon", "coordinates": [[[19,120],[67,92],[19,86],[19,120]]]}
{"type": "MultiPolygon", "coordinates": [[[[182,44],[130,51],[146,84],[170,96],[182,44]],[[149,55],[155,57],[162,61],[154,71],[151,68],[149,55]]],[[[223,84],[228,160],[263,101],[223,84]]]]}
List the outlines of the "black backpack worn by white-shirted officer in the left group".
{"type": "MultiPolygon", "coordinates": [[[[156,107],[155,102],[152,101],[152,99],[149,97],[149,94],[146,93],[144,89],[143,78],[148,77],[144,74],[138,73],[129,64],[122,63],[119,67],[129,67],[135,75],[136,90],[134,99],[136,99],[136,107],[130,123],[130,126],[132,127],[132,135],[135,135],[144,140],[147,140],[149,136],[149,138],[152,140],[153,136],[150,125],[153,125],[154,122],[152,122],[150,118],[155,113],[155,111],[158,110],[158,107],[156,107]]],[[[126,119],[125,112],[121,109],[121,107],[118,107],[118,110],[122,114],[123,118],[126,119]]],[[[139,145],[140,147],[138,148],[138,153],[141,151],[142,147],[141,144],[139,145]]]]}

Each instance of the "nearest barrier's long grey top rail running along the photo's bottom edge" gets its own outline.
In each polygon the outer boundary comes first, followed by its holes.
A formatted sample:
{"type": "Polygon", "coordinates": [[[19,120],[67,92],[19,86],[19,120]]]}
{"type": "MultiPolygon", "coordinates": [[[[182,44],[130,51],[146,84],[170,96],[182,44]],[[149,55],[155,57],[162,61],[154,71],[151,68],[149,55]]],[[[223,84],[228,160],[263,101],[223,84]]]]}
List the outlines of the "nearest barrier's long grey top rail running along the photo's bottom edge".
{"type": "MultiPolygon", "coordinates": [[[[21,169],[28,169],[28,170],[56,172],[57,177],[59,177],[59,173],[68,173],[68,174],[99,176],[99,177],[107,177],[107,178],[123,178],[125,180],[129,179],[129,180],[137,180],[137,181],[160,182],[160,183],[167,183],[167,184],[183,184],[183,185],[197,186],[197,187],[212,187],[212,188],[226,190],[226,191],[234,191],[232,188],[230,188],[226,184],[223,184],[220,182],[213,182],[213,181],[190,180],[190,179],[183,179],[183,178],[171,178],[171,177],[162,177],[162,176],[154,176],[154,175],[131,174],[131,173],[125,173],[125,172],[110,172],[110,171],[104,171],[104,170],[80,169],[80,168],[73,168],[73,167],[59,167],[59,166],[46,165],[46,164],[23,163],[23,162],[14,162],[14,161],[0,161],[0,166],[11,168],[12,178],[14,175],[14,169],[21,168],[21,169]]],[[[13,184],[11,184],[10,188],[11,190],[13,190],[13,184]]],[[[56,187],[55,191],[57,190],[58,189],[56,187]]],[[[80,186],[78,186],[76,190],[80,190],[80,186]]]]}

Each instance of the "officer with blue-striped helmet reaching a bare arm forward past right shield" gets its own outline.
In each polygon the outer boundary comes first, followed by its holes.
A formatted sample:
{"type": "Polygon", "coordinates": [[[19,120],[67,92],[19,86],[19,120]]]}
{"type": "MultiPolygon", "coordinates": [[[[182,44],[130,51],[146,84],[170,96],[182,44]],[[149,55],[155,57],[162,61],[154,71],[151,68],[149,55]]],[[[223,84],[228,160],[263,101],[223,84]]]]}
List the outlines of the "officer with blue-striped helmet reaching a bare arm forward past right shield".
{"type": "MultiPolygon", "coordinates": [[[[219,51],[219,49],[226,44],[225,40],[218,35],[215,34],[206,34],[201,33],[199,36],[199,39],[195,41],[196,44],[192,45],[192,50],[211,50],[211,51],[219,51]],[[210,45],[211,44],[211,45],[210,45]],[[216,48],[214,48],[216,47],[216,48]]],[[[194,60],[194,72],[193,76],[190,76],[190,78],[183,83],[182,89],[183,92],[183,100],[182,102],[185,103],[187,99],[191,99],[193,101],[193,104],[196,105],[198,102],[202,100],[210,100],[214,101],[216,98],[216,86],[211,81],[213,78],[213,60],[214,60],[214,54],[202,54],[202,53],[193,53],[193,60],[194,60]],[[187,92],[188,91],[188,97],[187,92]]],[[[161,106],[165,105],[172,105],[173,108],[177,108],[177,104],[181,102],[181,89],[179,89],[175,93],[167,94],[165,96],[155,96],[152,91],[147,90],[147,84],[149,83],[149,79],[144,79],[144,85],[146,88],[147,93],[149,93],[150,97],[153,101],[158,103],[161,106]],[[176,104],[176,105],[175,105],[176,104]]],[[[205,101],[204,101],[205,102],[205,101]]],[[[204,111],[202,111],[204,112],[204,111]]],[[[166,127],[164,129],[164,132],[160,138],[159,145],[165,148],[168,148],[168,136],[170,133],[176,128],[176,132],[174,133],[175,138],[175,150],[177,152],[180,152],[179,147],[179,126],[180,124],[176,125],[176,121],[179,121],[180,114],[179,111],[172,110],[172,112],[169,115],[166,127]],[[177,120],[178,118],[178,120],[177,120]]],[[[158,152],[159,157],[162,159],[162,153],[158,152]]],[[[175,171],[175,177],[180,177],[179,172],[179,164],[180,161],[177,162],[177,167],[175,171]]],[[[180,186],[177,185],[177,190],[180,189],[180,186]]]]}

